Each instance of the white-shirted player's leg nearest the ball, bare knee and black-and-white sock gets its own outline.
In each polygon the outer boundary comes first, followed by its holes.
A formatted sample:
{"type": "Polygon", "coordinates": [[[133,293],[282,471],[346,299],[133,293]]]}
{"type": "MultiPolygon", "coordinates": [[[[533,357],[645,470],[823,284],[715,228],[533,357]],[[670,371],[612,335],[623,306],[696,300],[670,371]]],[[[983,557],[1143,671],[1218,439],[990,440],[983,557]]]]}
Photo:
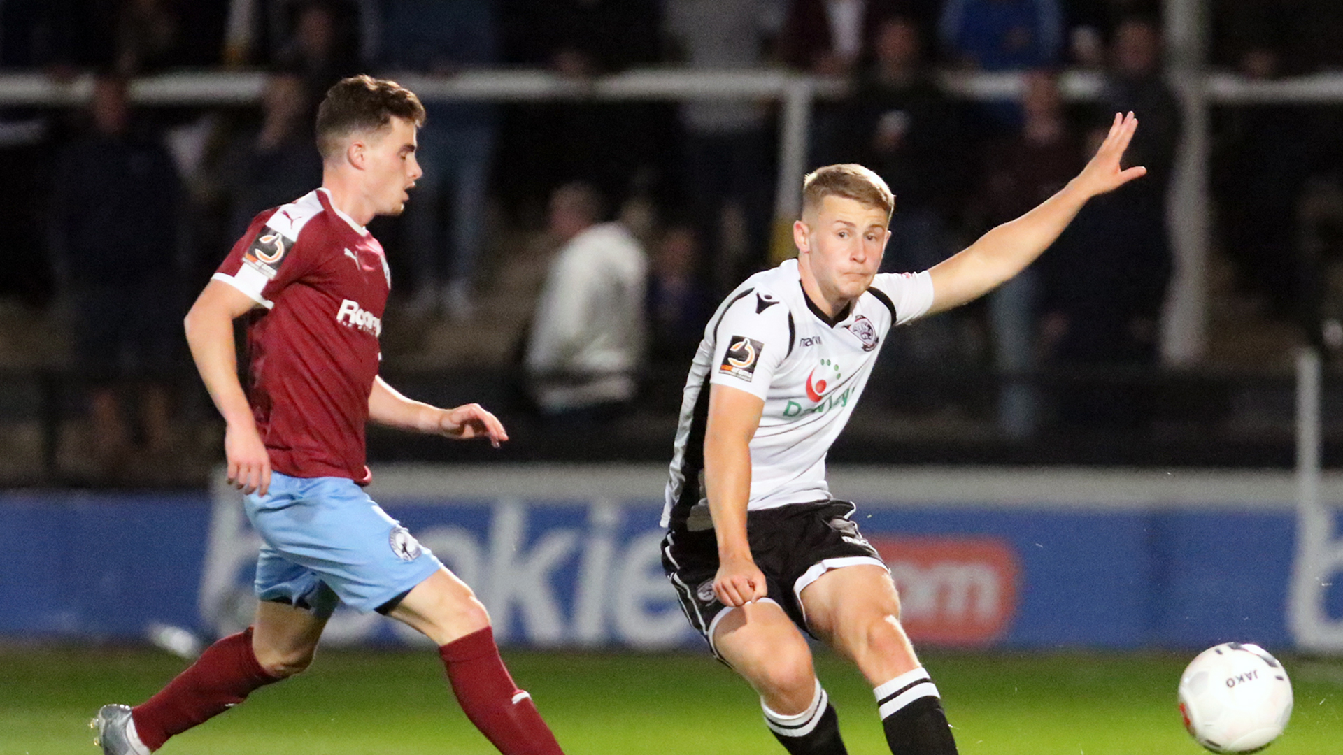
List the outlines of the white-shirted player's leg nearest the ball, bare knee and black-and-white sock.
{"type": "Polygon", "coordinates": [[[892,752],[956,752],[937,688],[900,626],[900,598],[886,570],[864,564],[829,571],[802,590],[802,605],[811,631],[873,685],[892,752]]]}

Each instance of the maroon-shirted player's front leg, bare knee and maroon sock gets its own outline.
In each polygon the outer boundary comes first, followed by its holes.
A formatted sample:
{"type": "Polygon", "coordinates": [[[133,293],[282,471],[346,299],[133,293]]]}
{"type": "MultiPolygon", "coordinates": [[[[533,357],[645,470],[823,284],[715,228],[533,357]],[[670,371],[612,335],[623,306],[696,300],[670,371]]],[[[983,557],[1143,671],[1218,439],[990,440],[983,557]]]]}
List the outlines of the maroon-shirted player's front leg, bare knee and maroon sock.
{"type": "Polygon", "coordinates": [[[457,701],[500,752],[560,755],[532,696],[504,668],[485,606],[457,575],[434,572],[387,615],[438,643],[457,701]]]}

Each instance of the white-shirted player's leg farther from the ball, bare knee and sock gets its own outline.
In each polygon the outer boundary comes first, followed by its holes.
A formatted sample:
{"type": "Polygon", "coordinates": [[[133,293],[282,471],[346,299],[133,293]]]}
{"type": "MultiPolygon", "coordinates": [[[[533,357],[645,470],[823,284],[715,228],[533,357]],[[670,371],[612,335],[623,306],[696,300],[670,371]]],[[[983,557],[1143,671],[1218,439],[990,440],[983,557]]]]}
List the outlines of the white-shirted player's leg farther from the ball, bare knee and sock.
{"type": "Polygon", "coordinates": [[[776,603],[732,609],[714,627],[713,648],[760,695],[766,725],[788,752],[846,752],[839,719],[811,665],[811,649],[776,603]]]}

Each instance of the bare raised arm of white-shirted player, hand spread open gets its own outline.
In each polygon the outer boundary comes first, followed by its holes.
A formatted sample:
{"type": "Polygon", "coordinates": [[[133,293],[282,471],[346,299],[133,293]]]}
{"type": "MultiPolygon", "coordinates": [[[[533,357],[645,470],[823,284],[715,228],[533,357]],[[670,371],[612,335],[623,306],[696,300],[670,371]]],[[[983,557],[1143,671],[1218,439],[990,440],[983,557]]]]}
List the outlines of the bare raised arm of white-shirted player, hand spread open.
{"type": "Polygon", "coordinates": [[[960,254],[935,265],[929,314],[976,300],[1026,269],[1054,243],[1093,196],[1113,191],[1147,173],[1124,169],[1120,160],[1138,129],[1138,118],[1115,114],[1109,134],[1082,172],[1030,212],[998,226],[960,254]]]}

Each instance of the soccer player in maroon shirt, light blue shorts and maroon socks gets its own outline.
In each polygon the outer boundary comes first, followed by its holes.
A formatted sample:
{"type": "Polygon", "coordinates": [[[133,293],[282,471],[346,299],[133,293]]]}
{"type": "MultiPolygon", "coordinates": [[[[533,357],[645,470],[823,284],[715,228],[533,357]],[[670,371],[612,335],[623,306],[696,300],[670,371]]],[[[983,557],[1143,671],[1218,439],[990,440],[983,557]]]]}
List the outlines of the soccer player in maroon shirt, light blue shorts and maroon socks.
{"type": "Polygon", "coordinates": [[[485,607],[461,579],[364,493],[364,425],[449,438],[508,439],[477,404],[438,408],[377,376],[391,274],[364,228],[396,215],[422,172],[424,109],[389,81],[353,77],[317,113],[322,187],[258,215],[187,314],[200,376],[227,422],[228,480],[265,545],[257,615],[134,708],[93,724],[106,755],[164,742],[304,670],[337,603],[399,619],[439,645],[458,703],[505,755],[560,747],[500,660],[485,607]],[[248,390],[234,320],[248,317],[248,390]]]}

